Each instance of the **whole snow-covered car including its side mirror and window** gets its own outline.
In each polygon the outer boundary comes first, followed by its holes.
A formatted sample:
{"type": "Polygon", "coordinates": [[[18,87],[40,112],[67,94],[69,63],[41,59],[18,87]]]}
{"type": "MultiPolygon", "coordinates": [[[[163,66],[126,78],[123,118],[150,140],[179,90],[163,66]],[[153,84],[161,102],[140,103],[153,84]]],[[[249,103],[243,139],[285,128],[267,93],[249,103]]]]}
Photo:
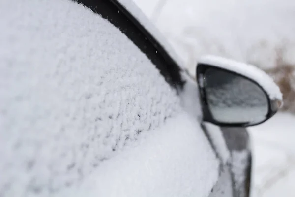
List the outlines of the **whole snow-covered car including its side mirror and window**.
{"type": "Polygon", "coordinates": [[[0,2],[0,196],[247,197],[246,126],[281,93],[205,56],[189,76],[129,0],[0,2]]]}

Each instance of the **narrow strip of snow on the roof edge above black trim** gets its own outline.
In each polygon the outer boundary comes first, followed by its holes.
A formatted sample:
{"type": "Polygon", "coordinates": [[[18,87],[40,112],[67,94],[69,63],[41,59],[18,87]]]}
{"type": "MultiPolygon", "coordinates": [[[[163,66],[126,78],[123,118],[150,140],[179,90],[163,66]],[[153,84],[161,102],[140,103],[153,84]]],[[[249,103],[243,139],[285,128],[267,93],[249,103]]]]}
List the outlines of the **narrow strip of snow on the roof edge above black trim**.
{"type": "Polygon", "coordinates": [[[144,26],[144,28],[162,45],[168,54],[176,61],[178,66],[184,68],[184,63],[175,50],[168,43],[164,35],[154,26],[142,10],[132,0],[118,0],[132,15],[144,26]]]}

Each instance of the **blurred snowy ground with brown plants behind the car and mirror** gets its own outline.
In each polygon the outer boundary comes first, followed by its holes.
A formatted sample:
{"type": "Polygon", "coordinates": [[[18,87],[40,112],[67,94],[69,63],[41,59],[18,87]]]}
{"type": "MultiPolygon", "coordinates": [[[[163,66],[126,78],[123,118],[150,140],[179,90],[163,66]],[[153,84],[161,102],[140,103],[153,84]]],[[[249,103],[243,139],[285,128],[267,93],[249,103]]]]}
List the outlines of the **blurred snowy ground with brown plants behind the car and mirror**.
{"type": "Polygon", "coordinates": [[[256,197],[295,192],[295,0],[134,0],[191,75],[205,54],[250,63],[279,85],[281,112],[250,127],[256,197]]]}

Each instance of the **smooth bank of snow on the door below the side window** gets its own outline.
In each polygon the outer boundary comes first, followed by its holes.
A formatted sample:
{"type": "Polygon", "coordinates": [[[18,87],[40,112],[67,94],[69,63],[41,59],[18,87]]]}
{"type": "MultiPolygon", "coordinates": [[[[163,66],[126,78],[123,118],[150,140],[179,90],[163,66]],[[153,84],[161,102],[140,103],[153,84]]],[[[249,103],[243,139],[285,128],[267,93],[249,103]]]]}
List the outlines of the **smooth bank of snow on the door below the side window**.
{"type": "Polygon", "coordinates": [[[179,114],[58,196],[207,197],[219,162],[200,129],[194,118],[179,114]]]}

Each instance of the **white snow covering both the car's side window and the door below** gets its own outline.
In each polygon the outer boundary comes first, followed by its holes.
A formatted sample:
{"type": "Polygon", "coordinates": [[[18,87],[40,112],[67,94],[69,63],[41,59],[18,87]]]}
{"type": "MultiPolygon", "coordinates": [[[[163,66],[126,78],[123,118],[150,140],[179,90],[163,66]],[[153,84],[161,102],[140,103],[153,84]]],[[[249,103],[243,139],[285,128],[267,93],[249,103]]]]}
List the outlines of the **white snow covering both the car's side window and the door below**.
{"type": "Polygon", "coordinates": [[[0,1],[0,27],[1,197],[208,194],[218,160],[197,118],[118,29],[70,0],[0,1]]]}

